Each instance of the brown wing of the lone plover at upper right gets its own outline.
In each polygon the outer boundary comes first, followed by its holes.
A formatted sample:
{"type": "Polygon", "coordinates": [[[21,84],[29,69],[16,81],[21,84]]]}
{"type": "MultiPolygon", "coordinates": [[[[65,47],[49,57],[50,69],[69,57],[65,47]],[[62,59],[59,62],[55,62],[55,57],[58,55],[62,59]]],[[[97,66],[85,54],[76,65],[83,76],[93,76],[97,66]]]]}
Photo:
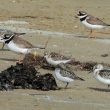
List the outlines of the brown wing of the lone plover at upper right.
{"type": "Polygon", "coordinates": [[[100,20],[97,17],[93,17],[93,16],[88,16],[86,21],[90,24],[93,25],[103,25],[103,26],[108,26],[108,24],[104,23],[102,20],[100,20]]]}

